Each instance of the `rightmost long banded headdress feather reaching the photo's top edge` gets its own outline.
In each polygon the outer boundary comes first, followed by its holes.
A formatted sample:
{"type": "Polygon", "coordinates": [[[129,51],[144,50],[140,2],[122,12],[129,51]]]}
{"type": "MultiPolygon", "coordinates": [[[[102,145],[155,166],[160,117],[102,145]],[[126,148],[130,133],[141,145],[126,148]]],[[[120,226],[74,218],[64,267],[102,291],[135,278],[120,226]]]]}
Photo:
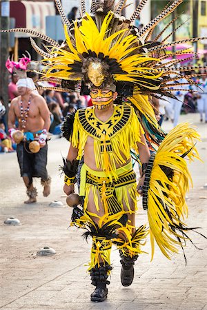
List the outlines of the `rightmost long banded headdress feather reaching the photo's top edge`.
{"type": "Polygon", "coordinates": [[[148,25],[146,25],[144,28],[140,30],[140,32],[137,34],[138,37],[143,37],[146,32],[150,31],[151,28],[155,27],[159,21],[162,21],[165,19],[171,12],[173,12],[179,4],[183,2],[183,0],[175,0],[166,10],[162,11],[161,14],[159,14],[155,19],[152,19],[148,25]]]}

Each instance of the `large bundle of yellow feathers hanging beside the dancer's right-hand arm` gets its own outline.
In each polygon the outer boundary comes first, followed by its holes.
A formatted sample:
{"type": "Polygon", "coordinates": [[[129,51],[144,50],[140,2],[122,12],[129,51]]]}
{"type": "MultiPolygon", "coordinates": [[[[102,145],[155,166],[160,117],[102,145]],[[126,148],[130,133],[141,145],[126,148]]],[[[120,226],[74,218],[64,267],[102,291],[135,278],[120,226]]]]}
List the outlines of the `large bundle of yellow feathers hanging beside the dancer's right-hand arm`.
{"type": "Polygon", "coordinates": [[[150,175],[148,189],[148,221],[150,225],[150,240],[152,258],[154,255],[155,241],[164,256],[170,259],[173,253],[182,247],[182,240],[188,237],[183,232],[188,216],[188,207],[185,202],[186,191],[189,187],[190,173],[187,163],[181,155],[186,155],[190,161],[198,158],[195,141],[199,134],[188,123],[177,125],[161,143],[150,175]],[[172,169],[171,176],[161,169],[172,169]]]}

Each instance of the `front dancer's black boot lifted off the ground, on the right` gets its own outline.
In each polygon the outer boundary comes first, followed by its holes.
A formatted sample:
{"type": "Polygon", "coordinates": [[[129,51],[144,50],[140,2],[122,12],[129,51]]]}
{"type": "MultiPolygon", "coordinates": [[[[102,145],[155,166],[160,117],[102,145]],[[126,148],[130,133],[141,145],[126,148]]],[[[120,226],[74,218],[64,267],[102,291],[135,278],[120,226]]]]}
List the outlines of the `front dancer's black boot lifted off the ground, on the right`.
{"type": "Polygon", "coordinates": [[[138,258],[138,255],[132,256],[124,256],[122,251],[120,251],[120,256],[121,256],[121,284],[124,287],[129,287],[133,280],[134,280],[134,265],[135,261],[138,258]]]}

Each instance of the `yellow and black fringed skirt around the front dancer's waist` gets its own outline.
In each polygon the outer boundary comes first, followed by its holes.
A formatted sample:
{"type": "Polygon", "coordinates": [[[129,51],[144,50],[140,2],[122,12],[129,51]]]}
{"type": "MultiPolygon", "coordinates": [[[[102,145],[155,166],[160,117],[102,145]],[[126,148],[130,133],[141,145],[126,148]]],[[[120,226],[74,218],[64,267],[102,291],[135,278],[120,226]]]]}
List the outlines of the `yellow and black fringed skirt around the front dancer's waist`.
{"type": "Polygon", "coordinates": [[[137,209],[137,182],[132,163],[118,168],[117,175],[118,179],[111,181],[106,172],[97,172],[83,164],[79,196],[85,197],[84,210],[87,209],[89,194],[92,192],[97,212],[100,211],[100,207],[103,207],[105,216],[117,213],[135,213],[137,209]]]}

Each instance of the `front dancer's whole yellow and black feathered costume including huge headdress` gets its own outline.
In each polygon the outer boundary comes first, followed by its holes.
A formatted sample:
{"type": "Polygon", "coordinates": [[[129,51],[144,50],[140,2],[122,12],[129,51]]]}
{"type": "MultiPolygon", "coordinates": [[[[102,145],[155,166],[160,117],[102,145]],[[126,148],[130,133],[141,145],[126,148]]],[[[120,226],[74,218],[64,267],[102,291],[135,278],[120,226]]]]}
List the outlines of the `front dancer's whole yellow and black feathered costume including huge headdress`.
{"type": "MultiPolygon", "coordinates": [[[[155,242],[164,256],[170,258],[189,239],[184,222],[188,214],[185,195],[190,174],[184,157],[190,161],[199,158],[195,149],[199,136],[188,124],[177,126],[166,135],[157,124],[148,101],[148,96],[175,99],[173,81],[178,81],[182,72],[188,72],[185,78],[189,85],[195,84],[190,79],[195,74],[189,73],[195,68],[177,66],[181,61],[193,59],[195,53],[185,50],[186,59],[171,60],[169,56],[184,54],[184,50],[169,55],[166,48],[170,45],[176,47],[180,41],[164,43],[170,36],[158,41],[171,22],[150,41],[157,23],[168,17],[182,1],[171,1],[161,14],[138,30],[133,21],[146,0],[139,3],[130,20],[120,17],[125,0],[116,5],[113,0],[92,0],[90,14],[82,0],[81,17],[74,23],[66,18],[61,1],[55,0],[66,36],[62,45],[34,30],[3,30],[27,32],[48,42],[48,45],[43,45],[45,50],[41,50],[31,39],[34,50],[43,56],[40,81],[61,85],[53,87],[54,90],[90,94],[92,99],[93,107],[78,110],[75,118],[67,116],[63,124],[63,136],[71,142],[73,149],[77,149],[77,154],[69,158],[68,153],[62,167],[69,189],[74,189],[75,181],[81,179],[79,196],[82,209],[72,205],[72,225],[86,229],[83,236],[92,238],[88,269],[92,284],[96,286],[91,294],[92,301],[103,301],[107,297],[112,244],[117,246],[121,256],[121,283],[128,286],[133,280],[135,260],[139,254],[145,253],[141,245],[145,245],[148,234],[152,257],[155,242]],[[100,121],[95,112],[111,107],[114,110],[110,118],[100,121]],[[148,163],[138,159],[145,176],[143,207],[148,209],[149,228],[141,225],[136,229],[130,220],[130,216],[135,215],[137,203],[131,154],[136,159],[139,156],[137,143],[141,149],[143,134],[149,149],[153,150],[148,163]],[[95,170],[86,163],[81,167],[89,138],[93,139],[95,170]],[[79,160],[78,172],[76,159],[79,160]],[[88,210],[90,200],[95,203],[93,212],[88,210]]],[[[186,39],[182,43],[199,39],[204,38],[186,39]]],[[[183,83],[178,81],[176,85],[179,87],[176,91],[182,91],[183,83]]]]}

